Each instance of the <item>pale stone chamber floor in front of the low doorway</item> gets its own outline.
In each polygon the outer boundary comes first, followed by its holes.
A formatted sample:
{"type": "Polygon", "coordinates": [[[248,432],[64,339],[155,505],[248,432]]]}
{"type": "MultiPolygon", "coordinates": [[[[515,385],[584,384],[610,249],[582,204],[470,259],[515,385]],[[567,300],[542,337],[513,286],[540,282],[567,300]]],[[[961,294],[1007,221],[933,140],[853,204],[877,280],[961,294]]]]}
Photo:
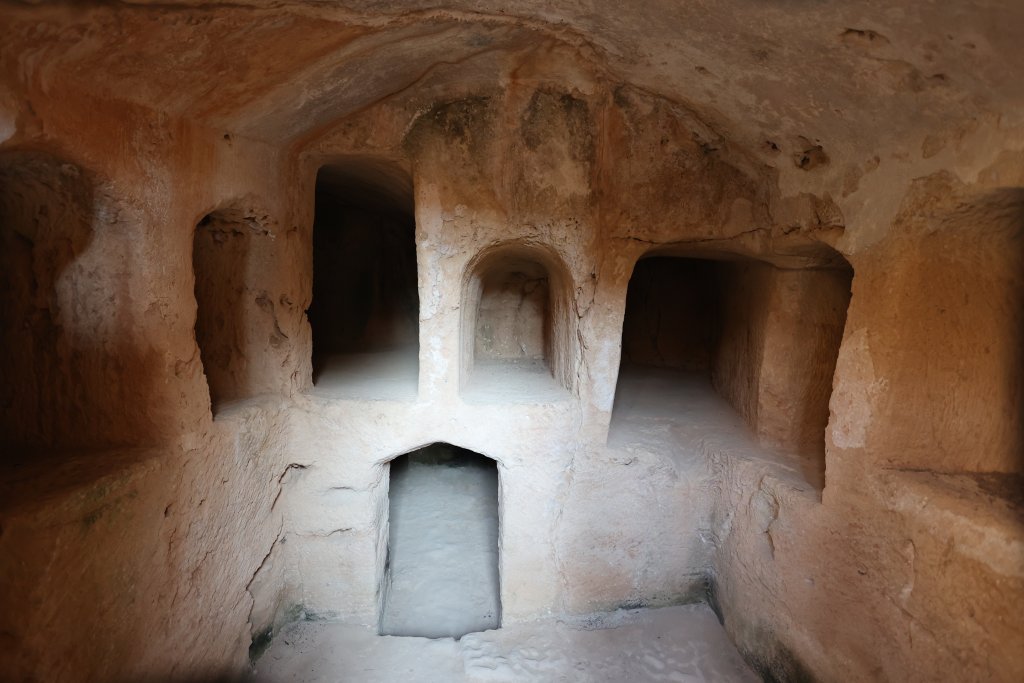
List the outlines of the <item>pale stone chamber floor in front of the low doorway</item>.
{"type": "Polygon", "coordinates": [[[505,625],[452,638],[378,636],[369,627],[300,622],[256,663],[255,680],[745,683],[760,680],[705,604],[505,625]]]}

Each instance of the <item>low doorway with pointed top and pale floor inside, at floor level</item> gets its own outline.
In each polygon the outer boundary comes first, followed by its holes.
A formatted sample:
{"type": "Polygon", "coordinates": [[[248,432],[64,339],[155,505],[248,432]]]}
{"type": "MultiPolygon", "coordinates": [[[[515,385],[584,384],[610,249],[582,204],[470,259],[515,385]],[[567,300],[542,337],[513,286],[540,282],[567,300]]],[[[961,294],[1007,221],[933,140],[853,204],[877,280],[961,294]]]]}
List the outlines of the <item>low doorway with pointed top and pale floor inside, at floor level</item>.
{"type": "Polygon", "coordinates": [[[460,638],[499,628],[497,463],[434,443],[389,467],[381,635],[460,638]]]}

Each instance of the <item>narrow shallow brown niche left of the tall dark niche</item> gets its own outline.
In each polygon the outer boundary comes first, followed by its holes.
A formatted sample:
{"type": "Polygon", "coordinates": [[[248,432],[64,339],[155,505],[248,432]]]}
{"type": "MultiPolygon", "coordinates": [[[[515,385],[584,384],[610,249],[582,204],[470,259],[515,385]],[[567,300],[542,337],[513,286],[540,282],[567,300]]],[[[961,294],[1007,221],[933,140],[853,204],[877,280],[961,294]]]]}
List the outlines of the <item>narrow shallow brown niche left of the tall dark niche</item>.
{"type": "Polygon", "coordinates": [[[248,351],[258,308],[265,294],[250,296],[257,242],[268,231],[257,217],[237,210],[206,215],[193,238],[196,278],[196,342],[216,416],[229,401],[255,393],[248,351]]]}

